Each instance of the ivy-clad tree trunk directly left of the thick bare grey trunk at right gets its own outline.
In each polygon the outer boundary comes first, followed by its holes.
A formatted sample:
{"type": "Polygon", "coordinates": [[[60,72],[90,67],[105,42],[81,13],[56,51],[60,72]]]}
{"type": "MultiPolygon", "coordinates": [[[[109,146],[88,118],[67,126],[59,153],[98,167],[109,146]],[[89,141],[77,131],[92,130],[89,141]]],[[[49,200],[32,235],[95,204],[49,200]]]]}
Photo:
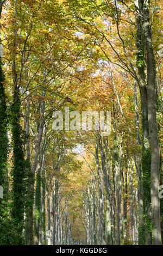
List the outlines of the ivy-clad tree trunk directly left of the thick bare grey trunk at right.
{"type": "MultiPolygon", "coordinates": [[[[136,64],[139,74],[139,89],[140,89],[140,99],[141,99],[141,119],[142,119],[142,188],[143,188],[143,215],[139,223],[139,245],[145,245],[146,242],[150,245],[152,240],[151,234],[151,216],[149,214],[149,206],[151,205],[151,149],[149,148],[149,129],[148,129],[148,99],[147,99],[147,82],[146,82],[146,60],[145,60],[145,36],[142,31],[141,24],[141,8],[140,1],[135,0],[135,10],[136,15],[136,47],[137,56],[136,64]]],[[[139,168],[139,163],[137,163],[137,168],[139,168]]],[[[139,169],[137,169],[137,172],[139,169]]],[[[138,177],[138,182],[140,185],[140,172],[138,177]]],[[[140,205],[140,209],[142,206],[140,205]]],[[[141,209],[142,210],[142,209],[141,209]]]]}

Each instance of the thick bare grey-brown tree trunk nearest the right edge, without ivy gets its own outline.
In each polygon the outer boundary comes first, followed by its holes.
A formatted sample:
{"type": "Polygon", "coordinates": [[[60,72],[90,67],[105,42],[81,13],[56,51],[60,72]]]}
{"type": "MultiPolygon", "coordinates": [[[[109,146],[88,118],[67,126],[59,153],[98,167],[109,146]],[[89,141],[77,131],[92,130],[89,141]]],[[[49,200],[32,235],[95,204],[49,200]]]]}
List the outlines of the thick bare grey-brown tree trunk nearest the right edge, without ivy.
{"type": "Polygon", "coordinates": [[[158,126],[156,120],[156,70],[152,45],[151,25],[149,18],[149,0],[141,0],[141,15],[143,33],[146,39],[147,52],[147,87],[148,87],[148,125],[151,146],[151,203],[152,203],[152,232],[154,245],[162,245],[160,227],[160,149],[158,126]]]}

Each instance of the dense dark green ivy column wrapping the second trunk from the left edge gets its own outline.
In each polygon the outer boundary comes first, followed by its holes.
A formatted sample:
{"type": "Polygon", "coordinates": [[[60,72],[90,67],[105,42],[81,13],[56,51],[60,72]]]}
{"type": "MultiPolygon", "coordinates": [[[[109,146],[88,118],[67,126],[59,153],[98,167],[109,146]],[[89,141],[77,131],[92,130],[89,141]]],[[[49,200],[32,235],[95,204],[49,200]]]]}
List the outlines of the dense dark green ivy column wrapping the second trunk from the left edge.
{"type": "Polygon", "coordinates": [[[20,125],[21,102],[18,88],[15,86],[13,104],[11,106],[11,125],[12,125],[12,204],[11,216],[16,233],[16,245],[24,243],[24,205],[26,192],[26,161],[24,160],[24,138],[20,125]]]}

